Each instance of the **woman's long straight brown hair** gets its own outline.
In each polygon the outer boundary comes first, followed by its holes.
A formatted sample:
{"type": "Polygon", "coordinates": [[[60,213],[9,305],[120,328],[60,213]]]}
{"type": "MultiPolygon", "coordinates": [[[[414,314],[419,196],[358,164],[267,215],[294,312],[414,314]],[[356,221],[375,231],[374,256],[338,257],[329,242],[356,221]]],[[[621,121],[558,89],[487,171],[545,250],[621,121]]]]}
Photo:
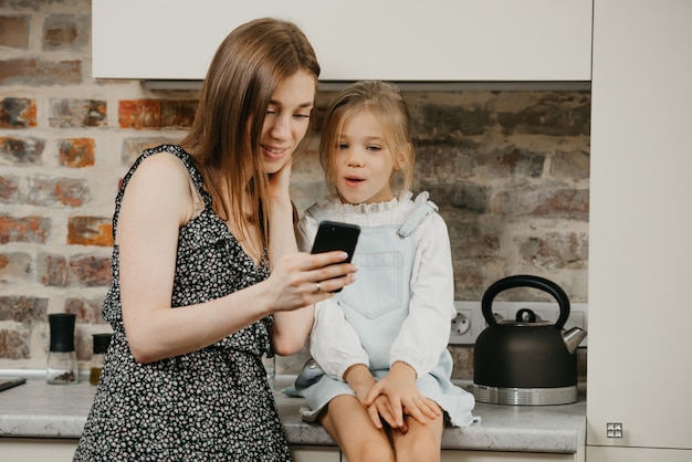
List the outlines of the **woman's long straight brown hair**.
{"type": "MultiPolygon", "coordinates": [[[[298,71],[315,76],[319,64],[305,34],[293,23],[272,18],[247,22],[219,45],[201,88],[197,114],[180,145],[202,172],[214,211],[249,235],[244,202],[269,244],[268,176],[260,138],[276,86],[298,71]],[[226,193],[224,193],[226,192],[226,193]]],[[[296,148],[297,150],[297,148],[296,148]]]]}

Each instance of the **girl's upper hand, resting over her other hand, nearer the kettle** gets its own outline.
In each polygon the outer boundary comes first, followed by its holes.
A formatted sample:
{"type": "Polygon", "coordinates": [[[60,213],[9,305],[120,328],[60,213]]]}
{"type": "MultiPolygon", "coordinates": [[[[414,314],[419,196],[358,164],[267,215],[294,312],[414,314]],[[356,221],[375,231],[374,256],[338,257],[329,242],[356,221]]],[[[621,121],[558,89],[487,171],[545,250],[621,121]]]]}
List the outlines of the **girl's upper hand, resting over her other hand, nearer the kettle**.
{"type": "Polygon", "coordinates": [[[387,397],[392,416],[391,421],[387,418],[385,420],[392,428],[402,431],[405,414],[411,416],[424,424],[429,420],[438,418],[442,412],[434,401],[420,393],[416,386],[416,371],[405,363],[397,361],[391,366],[389,374],[373,386],[364,405],[371,407],[380,396],[387,397]]]}

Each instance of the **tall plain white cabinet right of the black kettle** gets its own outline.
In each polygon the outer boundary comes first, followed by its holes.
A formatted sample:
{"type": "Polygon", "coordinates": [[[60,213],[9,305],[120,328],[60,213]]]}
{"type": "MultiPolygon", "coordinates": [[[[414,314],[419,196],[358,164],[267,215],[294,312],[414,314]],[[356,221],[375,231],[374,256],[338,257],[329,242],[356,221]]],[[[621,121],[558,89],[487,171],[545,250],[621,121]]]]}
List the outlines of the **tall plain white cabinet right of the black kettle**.
{"type": "Polygon", "coordinates": [[[690,461],[692,2],[594,13],[587,460],[690,461]]]}

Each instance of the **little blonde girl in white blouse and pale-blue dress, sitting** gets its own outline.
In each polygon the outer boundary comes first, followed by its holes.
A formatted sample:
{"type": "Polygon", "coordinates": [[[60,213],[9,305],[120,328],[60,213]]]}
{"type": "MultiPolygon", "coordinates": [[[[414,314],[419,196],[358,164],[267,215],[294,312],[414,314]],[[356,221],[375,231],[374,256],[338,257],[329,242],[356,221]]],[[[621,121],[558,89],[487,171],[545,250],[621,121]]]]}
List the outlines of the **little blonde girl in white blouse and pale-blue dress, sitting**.
{"type": "Polygon", "coordinates": [[[473,421],[473,396],[452,385],[455,316],[447,225],[428,193],[412,199],[413,137],[392,85],[339,92],[319,146],[333,197],[298,224],[310,250],[323,220],[361,227],[357,281],[316,305],[311,361],[296,380],[306,420],[358,461],[439,461],[444,424],[473,421]]]}

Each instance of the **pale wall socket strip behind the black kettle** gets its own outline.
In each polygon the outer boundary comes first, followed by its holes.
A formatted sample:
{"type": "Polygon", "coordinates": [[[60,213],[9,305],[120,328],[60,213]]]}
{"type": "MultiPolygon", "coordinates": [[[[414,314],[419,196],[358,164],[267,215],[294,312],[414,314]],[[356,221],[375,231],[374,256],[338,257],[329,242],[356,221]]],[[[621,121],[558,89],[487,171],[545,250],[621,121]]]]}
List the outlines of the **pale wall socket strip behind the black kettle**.
{"type": "MultiPolygon", "coordinates": [[[[487,327],[481,302],[454,301],[457,317],[452,319],[449,344],[450,345],[473,345],[475,339],[487,327]]],[[[565,323],[565,329],[579,327],[587,330],[588,305],[586,303],[570,303],[569,317],[565,323]]],[[[559,317],[559,306],[556,302],[493,302],[493,315],[497,322],[514,321],[516,312],[522,308],[532,309],[542,321],[556,323],[559,317]]],[[[587,337],[579,344],[587,346],[587,337]]]]}

